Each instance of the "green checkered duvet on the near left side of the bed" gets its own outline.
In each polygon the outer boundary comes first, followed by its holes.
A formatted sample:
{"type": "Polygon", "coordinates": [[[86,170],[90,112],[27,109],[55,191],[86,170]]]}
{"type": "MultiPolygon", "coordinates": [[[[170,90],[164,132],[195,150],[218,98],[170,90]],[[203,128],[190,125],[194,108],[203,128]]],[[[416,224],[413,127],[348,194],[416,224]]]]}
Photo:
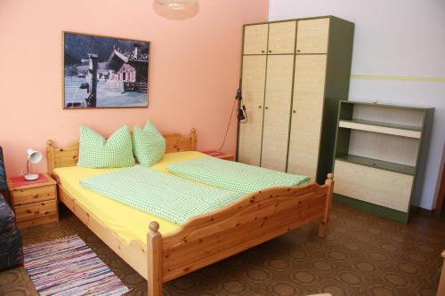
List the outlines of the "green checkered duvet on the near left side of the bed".
{"type": "Polygon", "coordinates": [[[80,183],[102,196],[176,224],[213,212],[243,196],[156,172],[142,165],[106,172],[80,183]]]}

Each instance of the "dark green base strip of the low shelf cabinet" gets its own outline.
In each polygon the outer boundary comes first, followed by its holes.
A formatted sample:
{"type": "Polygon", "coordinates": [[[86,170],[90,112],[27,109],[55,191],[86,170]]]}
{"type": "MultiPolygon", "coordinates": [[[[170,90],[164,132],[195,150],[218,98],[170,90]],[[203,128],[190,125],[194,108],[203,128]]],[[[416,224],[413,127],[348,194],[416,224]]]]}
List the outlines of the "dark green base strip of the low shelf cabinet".
{"type": "Polygon", "coordinates": [[[371,212],[376,215],[389,218],[392,220],[408,223],[409,213],[392,210],[377,204],[370,204],[361,200],[351,198],[348,196],[341,196],[334,194],[334,202],[338,204],[344,204],[355,209],[359,209],[365,212],[371,212]]]}

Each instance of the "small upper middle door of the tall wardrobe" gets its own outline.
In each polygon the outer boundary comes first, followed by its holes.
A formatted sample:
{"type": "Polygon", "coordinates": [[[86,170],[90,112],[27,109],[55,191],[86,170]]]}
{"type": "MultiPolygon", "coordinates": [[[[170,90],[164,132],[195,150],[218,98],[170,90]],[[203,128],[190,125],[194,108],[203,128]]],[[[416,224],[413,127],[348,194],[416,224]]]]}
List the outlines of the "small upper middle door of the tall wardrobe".
{"type": "Polygon", "coordinates": [[[273,22],[269,25],[270,54],[295,52],[296,21],[273,22]]]}

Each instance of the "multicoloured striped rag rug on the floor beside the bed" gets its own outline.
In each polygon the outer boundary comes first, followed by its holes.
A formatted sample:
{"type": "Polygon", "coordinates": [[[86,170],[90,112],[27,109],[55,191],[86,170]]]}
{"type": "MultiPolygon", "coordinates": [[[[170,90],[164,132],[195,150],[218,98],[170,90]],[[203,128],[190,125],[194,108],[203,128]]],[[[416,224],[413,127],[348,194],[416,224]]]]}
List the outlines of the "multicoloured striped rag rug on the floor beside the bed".
{"type": "Polygon", "coordinates": [[[25,269],[40,295],[123,295],[129,292],[79,236],[23,248],[25,269]]]}

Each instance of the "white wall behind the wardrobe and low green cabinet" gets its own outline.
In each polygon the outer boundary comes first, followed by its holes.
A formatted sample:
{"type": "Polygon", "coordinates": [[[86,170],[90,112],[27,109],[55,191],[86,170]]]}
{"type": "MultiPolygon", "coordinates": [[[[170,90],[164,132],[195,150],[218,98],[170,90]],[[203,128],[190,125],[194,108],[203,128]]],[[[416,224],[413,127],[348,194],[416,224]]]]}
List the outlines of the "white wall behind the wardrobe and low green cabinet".
{"type": "Polygon", "coordinates": [[[349,100],[435,108],[418,204],[433,209],[444,161],[445,1],[270,0],[269,20],[321,15],[355,23],[349,100]]]}

